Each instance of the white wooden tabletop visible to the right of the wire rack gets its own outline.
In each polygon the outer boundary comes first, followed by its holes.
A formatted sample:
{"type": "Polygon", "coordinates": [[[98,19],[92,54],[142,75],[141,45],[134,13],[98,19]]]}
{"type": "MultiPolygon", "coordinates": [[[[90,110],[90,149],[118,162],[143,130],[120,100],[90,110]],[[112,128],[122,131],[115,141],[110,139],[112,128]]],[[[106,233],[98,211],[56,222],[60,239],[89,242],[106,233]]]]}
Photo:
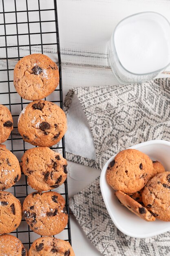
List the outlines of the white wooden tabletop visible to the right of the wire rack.
{"type": "MultiPolygon", "coordinates": [[[[170,21],[169,0],[57,0],[64,95],[77,86],[115,85],[108,67],[107,43],[115,25],[126,16],[156,11],[170,21]]],[[[160,77],[166,77],[170,68],[160,77]]],[[[71,197],[100,175],[99,170],[68,164],[71,197]]],[[[71,216],[72,245],[76,256],[99,256],[71,216]]],[[[111,256],[111,255],[109,255],[111,256]]]]}

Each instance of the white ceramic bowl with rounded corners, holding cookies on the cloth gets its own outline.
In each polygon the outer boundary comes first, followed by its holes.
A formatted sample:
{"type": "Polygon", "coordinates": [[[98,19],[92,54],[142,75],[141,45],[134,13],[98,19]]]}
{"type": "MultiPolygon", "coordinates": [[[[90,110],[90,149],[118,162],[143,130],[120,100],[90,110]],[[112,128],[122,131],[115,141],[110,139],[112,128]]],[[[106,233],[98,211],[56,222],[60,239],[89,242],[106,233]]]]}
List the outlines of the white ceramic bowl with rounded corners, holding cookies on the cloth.
{"type": "MultiPolygon", "coordinates": [[[[160,161],[165,167],[166,171],[170,171],[169,141],[152,140],[137,144],[131,148],[140,150],[141,152],[147,154],[152,160],[160,161]]],[[[170,231],[170,222],[164,222],[161,220],[147,222],[136,216],[118,202],[117,197],[114,195],[115,191],[106,180],[107,167],[109,163],[113,161],[115,156],[116,155],[111,157],[106,162],[100,176],[100,188],[104,203],[115,226],[124,234],[135,238],[146,238],[170,231]]]]}

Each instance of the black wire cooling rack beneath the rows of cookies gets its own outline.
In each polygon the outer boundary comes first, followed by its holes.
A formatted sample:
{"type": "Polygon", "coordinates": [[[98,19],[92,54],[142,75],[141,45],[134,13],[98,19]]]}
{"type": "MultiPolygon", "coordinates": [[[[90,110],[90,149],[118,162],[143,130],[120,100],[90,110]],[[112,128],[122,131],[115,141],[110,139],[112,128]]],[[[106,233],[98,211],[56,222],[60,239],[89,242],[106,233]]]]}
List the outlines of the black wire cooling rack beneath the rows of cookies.
{"type": "MultiPolygon", "coordinates": [[[[14,130],[5,144],[19,160],[24,152],[33,146],[24,142],[18,133],[19,114],[30,101],[20,98],[15,91],[13,69],[20,58],[39,52],[51,57],[59,67],[59,88],[57,87],[47,99],[63,108],[62,66],[56,0],[0,0],[0,104],[7,106],[12,113],[14,130]]],[[[62,138],[62,145],[53,147],[53,149],[62,150],[65,158],[64,138],[62,138]]],[[[60,194],[66,200],[68,225],[56,237],[71,243],[67,180],[62,186],[64,193],[60,192],[60,194]]],[[[32,192],[32,189],[27,185],[26,176],[22,174],[21,180],[8,191],[23,202],[24,198],[32,192]]],[[[11,233],[17,236],[27,249],[36,238],[40,237],[29,229],[24,219],[18,229],[11,233]]]]}

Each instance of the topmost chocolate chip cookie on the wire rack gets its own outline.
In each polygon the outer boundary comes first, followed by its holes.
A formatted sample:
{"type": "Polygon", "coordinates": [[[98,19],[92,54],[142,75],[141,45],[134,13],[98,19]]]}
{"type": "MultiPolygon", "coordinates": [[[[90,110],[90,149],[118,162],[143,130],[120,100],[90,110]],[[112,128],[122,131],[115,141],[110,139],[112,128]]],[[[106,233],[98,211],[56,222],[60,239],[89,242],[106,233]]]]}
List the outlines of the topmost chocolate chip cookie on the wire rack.
{"type": "Polygon", "coordinates": [[[16,91],[31,101],[47,97],[59,83],[57,65],[44,54],[31,54],[20,59],[13,74],[16,91]]]}

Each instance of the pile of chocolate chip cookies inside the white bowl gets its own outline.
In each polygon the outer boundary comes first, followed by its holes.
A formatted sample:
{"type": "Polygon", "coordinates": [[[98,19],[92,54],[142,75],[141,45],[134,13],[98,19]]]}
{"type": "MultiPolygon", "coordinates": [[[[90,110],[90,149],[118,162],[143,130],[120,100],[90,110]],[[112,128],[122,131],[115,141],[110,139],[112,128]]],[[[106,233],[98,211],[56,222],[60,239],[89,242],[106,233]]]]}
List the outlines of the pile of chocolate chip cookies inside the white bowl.
{"type": "Polygon", "coordinates": [[[119,152],[110,162],[108,184],[122,205],[146,221],[170,221],[170,172],[135,149],[119,152]]]}

